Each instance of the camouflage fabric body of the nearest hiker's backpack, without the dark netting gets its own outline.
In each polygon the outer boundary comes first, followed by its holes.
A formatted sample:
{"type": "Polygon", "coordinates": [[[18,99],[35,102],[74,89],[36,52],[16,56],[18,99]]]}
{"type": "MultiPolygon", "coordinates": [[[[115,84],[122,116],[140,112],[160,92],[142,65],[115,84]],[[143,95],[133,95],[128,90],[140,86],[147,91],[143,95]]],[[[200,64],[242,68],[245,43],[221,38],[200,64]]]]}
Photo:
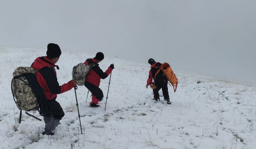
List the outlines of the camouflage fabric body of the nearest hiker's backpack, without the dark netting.
{"type": "Polygon", "coordinates": [[[34,75],[38,70],[30,67],[18,67],[13,72],[12,95],[16,98],[18,109],[23,111],[36,111],[38,109],[37,98],[33,93],[31,84],[26,75],[34,75]]]}

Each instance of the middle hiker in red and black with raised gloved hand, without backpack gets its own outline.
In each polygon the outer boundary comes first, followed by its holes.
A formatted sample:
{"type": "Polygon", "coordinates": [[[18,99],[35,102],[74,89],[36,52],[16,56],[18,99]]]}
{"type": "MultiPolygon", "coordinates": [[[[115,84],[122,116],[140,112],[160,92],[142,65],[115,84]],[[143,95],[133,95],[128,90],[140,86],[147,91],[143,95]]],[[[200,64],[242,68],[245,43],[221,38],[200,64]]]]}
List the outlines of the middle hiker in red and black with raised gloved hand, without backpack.
{"type": "Polygon", "coordinates": [[[106,72],[103,72],[99,68],[99,64],[98,64],[103,59],[104,59],[104,54],[101,52],[98,52],[93,59],[87,59],[84,62],[86,65],[95,63],[95,65],[90,69],[90,71],[88,72],[85,78],[85,87],[88,88],[88,90],[90,90],[90,92],[92,93],[92,102],[90,102],[90,107],[99,107],[99,105],[97,104],[103,99],[103,92],[99,88],[100,79],[105,79],[106,77],[108,77],[108,75],[114,69],[114,64],[111,64],[106,70],[106,72]]]}

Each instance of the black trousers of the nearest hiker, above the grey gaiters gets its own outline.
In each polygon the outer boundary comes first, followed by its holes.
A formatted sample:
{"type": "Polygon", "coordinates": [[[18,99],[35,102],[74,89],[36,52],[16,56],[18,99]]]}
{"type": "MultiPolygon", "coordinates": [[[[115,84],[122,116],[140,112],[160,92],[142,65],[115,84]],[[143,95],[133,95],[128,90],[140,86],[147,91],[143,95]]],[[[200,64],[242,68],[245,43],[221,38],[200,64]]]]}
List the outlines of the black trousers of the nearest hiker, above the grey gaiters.
{"type": "Polygon", "coordinates": [[[65,113],[61,108],[60,104],[56,100],[49,100],[49,105],[51,107],[51,112],[54,118],[61,120],[65,113]]]}

